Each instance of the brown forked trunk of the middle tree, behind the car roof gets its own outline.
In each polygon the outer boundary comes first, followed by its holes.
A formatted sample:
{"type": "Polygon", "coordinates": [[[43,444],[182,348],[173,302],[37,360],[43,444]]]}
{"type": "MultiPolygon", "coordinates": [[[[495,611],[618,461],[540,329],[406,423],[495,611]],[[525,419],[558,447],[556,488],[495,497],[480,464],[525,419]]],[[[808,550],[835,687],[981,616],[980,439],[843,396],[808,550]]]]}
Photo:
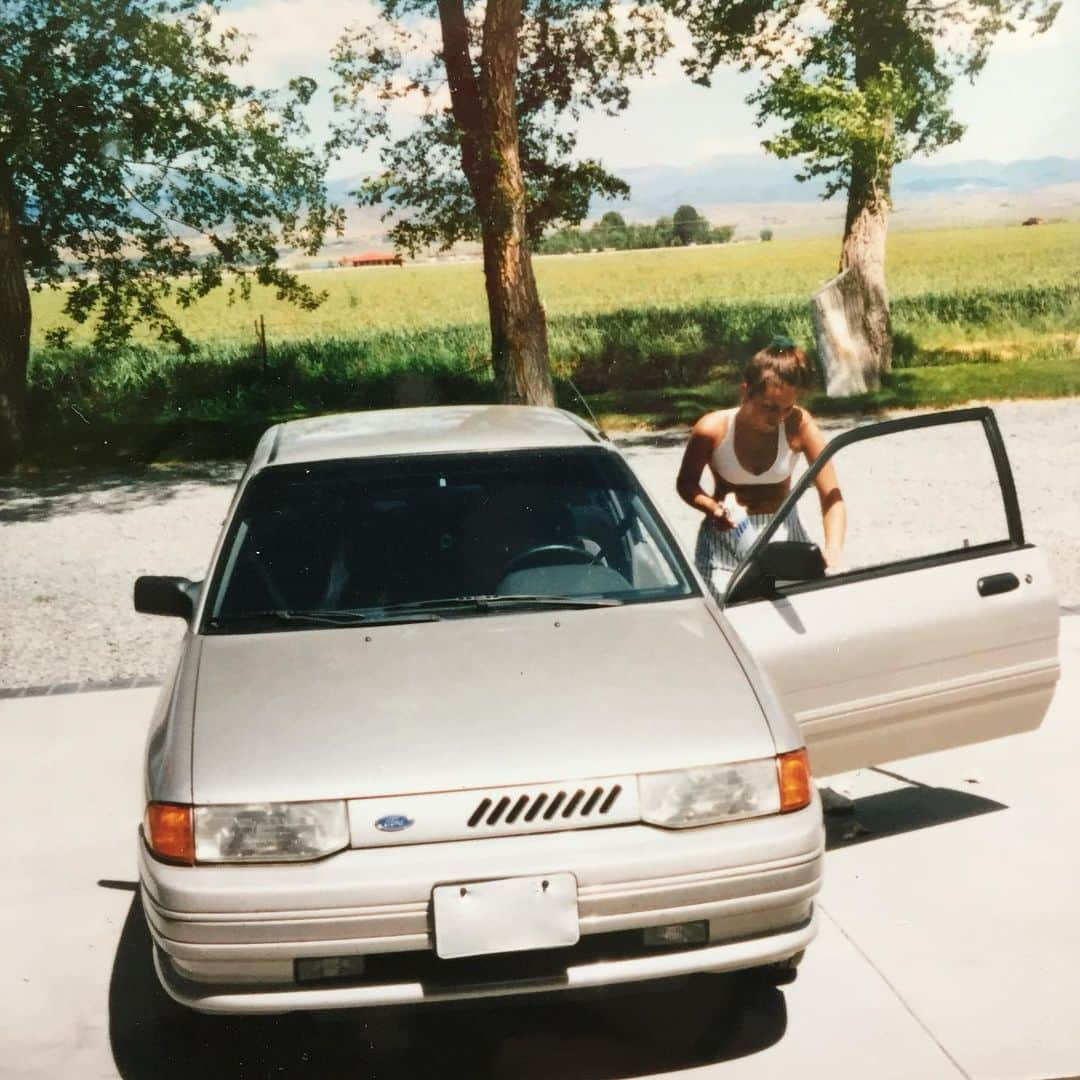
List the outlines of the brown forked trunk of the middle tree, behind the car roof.
{"type": "Polygon", "coordinates": [[[463,0],[438,0],[438,14],[450,104],[461,133],[461,165],[481,219],[499,399],[552,405],[548,321],[526,246],[525,177],[517,143],[522,0],[488,0],[478,75],[469,52],[463,0]]]}

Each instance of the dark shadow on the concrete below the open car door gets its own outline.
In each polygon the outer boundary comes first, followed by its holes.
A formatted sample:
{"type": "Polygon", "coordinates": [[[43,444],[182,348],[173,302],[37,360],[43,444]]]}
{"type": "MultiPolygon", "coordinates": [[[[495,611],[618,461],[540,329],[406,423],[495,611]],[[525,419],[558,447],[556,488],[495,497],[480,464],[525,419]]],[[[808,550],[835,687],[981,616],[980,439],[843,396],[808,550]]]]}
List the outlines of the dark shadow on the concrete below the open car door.
{"type": "Polygon", "coordinates": [[[855,799],[853,813],[826,814],[825,849],[832,851],[1008,809],[1003,802],[951,787],[901,787],[855,799]]]}

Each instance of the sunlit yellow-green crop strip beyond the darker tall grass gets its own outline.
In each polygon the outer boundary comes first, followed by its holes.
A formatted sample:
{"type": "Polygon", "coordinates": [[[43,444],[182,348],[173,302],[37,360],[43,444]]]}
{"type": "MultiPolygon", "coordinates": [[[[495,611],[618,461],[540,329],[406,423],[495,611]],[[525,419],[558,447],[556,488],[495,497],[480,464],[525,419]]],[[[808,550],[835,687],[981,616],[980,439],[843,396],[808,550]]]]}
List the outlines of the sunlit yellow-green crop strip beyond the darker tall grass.
{"type": "MultiPolygon", "coordinates": [[[[700,303],[802,303],[836,272],[838,254],[838,238],[813,237],[538,256],[535,266],[548,315],[557,320],[700,303]]],[[[301,278],[327,294],[315,311],[300,311],[278,300],[271,291],[256,287],[249,300],[233,305],[219,291],[178,312],[177,320],[192,340],[206,346],[252,341],[258,318],[265,320],[271,342],[487,322],[478,260],[311,270],[301,272],[301,278]]],[[[1077,281],[1080,222],[901,231],[889,240],[894,297],[1012,292],[1077,281]]],[[[59,324],[62,305],[62,294],[35,295],[33,345],[40,346],[45,332],[59,324]]],[[[89,339],[89,327],[72,335],[76,345],[89,339]]]]}

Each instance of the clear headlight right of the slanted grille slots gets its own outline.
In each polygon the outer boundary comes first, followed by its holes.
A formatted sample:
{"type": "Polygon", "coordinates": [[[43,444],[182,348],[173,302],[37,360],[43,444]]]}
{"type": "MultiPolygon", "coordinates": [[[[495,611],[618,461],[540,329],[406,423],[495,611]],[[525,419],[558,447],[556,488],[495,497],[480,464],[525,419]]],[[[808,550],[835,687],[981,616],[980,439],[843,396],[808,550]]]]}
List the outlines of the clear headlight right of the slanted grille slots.
{"type": "Polygon", "coordinates": [[[706,765],[637,778],[642,820],[665,828],[780,813],[777,759],[706,765]]]}

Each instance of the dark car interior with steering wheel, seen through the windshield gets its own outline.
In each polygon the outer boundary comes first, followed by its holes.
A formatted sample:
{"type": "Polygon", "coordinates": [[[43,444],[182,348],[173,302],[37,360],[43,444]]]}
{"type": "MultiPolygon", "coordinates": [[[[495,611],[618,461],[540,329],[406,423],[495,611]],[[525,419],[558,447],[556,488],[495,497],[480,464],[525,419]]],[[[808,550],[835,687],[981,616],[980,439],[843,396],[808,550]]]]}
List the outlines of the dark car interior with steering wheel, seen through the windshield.
{"type": "Polygon", "coordinates": [[[305,476],[252,492],[213,616],[477,595],[618,597],[679,584],[629,492],[580,477],[454,482],[446,472],[381,483],[305,476]]]}

